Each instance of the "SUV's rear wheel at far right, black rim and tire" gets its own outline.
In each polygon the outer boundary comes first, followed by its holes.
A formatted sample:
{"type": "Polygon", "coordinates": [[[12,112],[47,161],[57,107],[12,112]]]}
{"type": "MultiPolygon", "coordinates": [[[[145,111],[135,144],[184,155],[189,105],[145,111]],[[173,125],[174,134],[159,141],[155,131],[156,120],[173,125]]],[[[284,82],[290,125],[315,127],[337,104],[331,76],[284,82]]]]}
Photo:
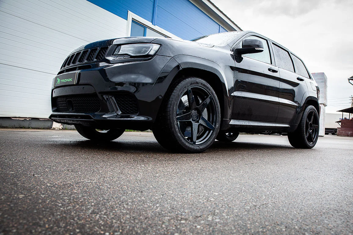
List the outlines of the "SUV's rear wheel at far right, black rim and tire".
{"type": "Polygon", "coordinates": [[[294,148],[313,148],[319,137],[319,115],[314,106],[305,108],[295,132],[288,134],[289,143],[294,148]]]}

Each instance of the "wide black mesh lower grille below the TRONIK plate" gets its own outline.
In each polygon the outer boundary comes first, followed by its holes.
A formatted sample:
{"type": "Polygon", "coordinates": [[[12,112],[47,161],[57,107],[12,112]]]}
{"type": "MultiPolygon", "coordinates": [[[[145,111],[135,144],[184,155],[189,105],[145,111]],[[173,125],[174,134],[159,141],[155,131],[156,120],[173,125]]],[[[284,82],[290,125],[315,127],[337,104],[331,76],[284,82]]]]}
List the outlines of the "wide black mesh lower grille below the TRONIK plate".
{"type": "Polygon", "coordinates": [[[101,101],[97,95],[56,98],[56,112],[96,113],[100,109],[101,101]],[[71,107],[71,105],[73,105],[73,107],[71,107]]]}

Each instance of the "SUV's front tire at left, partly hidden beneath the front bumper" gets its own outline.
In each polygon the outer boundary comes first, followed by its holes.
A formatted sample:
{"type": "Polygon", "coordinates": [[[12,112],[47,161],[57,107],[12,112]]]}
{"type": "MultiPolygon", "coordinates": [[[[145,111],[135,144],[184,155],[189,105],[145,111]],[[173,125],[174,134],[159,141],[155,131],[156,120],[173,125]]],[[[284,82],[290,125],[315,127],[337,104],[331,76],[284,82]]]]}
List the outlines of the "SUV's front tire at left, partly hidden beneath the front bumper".
{"type": "Polygon", "coordinates": [[[107,142],[119,138],[123,133],[124,129],[110,129],[104,131],[97,131],[95,128],[90,126],[75,125],[77,132],[89,140],[107,142]]]}

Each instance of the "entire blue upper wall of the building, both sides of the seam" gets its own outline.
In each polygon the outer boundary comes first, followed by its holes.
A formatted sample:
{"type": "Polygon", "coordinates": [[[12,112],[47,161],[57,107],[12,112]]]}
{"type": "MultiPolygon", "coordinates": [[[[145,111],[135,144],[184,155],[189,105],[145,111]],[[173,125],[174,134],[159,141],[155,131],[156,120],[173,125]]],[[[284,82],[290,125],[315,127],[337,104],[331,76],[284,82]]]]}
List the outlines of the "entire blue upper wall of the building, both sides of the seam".
{"type": "Polygon", "coordinates": [[[127,11],[183,39],[227,32],[189,0],[87,0],[123,19],[127,11]],[[155,18],[153,18],[155,17],[155,18]]]}

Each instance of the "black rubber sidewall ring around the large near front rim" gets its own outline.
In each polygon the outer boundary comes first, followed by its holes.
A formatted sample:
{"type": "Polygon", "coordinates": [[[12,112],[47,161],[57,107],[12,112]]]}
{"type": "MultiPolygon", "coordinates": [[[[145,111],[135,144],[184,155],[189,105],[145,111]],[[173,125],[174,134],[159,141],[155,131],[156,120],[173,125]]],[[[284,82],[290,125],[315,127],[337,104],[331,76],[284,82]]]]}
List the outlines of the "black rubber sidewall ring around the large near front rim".
{"type": "Polygon", "coordinates": [[[215,141],[216,136],[219,132],[219,126],[220,126],[220,122],[221,122],[221,109],[220,109],[219,101],[217,99],[217,95],[213,91],[212,87],[206,81],[199,79],[199,78],[195,78],[195,77],[188,78],[187,80],[183,80],[180,83],[182,84],[182,86],[173,95],[173,97],[170,97],[172,99],[172,109],[170,110],[171,111],[171,113],[170,113],[171,120],[170,121],[173,124],[172,125],[173,133],[175,134],[175,138],[177,138],[178,143],[184,149],[186,149],[188,151],[192,151],[192,152],[204,151],[205,149],[210,147],[210,145],[215,141]],[[211,97],[213,98],[213,102],[215,104],[215,112],[216,112],[215,130],[213,131],[213,133],[211,134],[211,136],[209,137],[209,139],[207,141],[205,141],[204,143],[199,144],[199,145],[191,144],[180,133],[179,125],[178,125],[177,117],[176,117],[179,100],[181,99],[182,95],[187,90],[187,88],[192,88],[192,87],[200,87],[200,88],[207,90],[210,93],[211,97]]]}

